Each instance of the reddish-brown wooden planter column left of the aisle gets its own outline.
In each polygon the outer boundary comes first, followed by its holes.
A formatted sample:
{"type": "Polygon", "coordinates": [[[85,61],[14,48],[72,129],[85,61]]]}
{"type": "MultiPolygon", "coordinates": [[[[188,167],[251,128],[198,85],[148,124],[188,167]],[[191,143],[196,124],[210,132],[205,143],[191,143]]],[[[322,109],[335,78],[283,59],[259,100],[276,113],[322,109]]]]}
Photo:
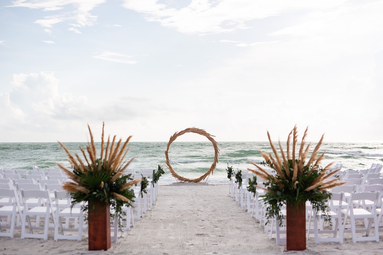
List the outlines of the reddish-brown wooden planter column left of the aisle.
{"type": "Polygon", "coordinates": [[[89,250],[108,250],[110,242],[110,205],[104,202],[89,203],[89,250]]]}

